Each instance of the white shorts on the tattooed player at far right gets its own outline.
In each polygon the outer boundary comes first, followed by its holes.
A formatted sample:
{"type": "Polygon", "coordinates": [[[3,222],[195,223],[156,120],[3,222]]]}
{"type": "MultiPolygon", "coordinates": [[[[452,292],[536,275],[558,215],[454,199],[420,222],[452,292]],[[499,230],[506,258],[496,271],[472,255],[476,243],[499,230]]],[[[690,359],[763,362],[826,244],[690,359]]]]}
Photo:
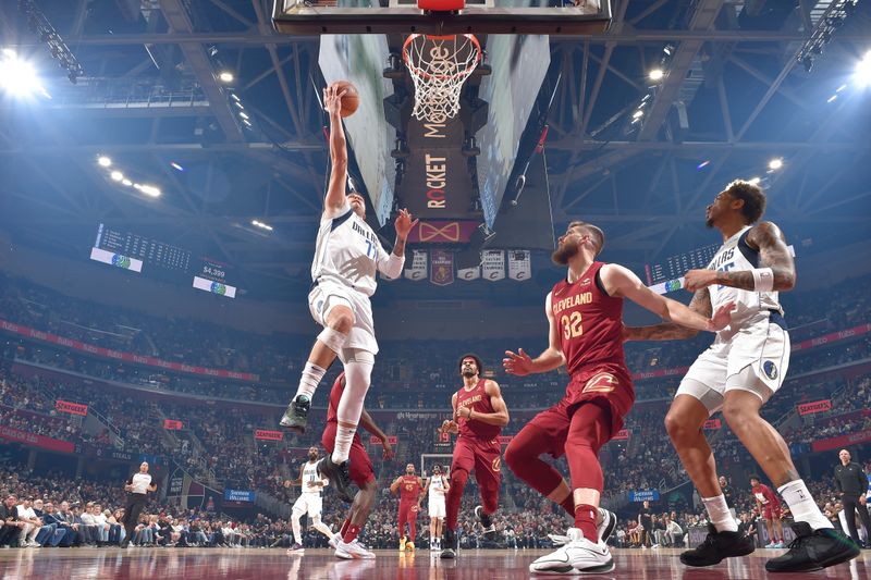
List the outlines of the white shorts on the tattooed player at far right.
{"type": "Polygon", "coordinates": [[[789,367],[789,333],[780,317],[755,317],[727,341],[720,337],[696,359],[677,395],[698,398],[713,415],[725,393],[748,391],[766,402],[783,384],[789,367]]]}

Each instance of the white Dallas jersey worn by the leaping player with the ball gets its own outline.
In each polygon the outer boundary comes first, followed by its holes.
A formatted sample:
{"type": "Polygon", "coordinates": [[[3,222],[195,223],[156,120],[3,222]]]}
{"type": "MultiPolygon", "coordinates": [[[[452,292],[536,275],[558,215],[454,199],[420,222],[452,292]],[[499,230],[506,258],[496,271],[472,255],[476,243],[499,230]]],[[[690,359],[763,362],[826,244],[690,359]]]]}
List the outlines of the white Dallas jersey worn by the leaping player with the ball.
{"type": "Polygon", "coordinates": [[[339,282],[371,296],[378,285],[378,264],[388,259],[375,231],[346,200],[335,218],[320,221],[311,281],[339,282]]]}

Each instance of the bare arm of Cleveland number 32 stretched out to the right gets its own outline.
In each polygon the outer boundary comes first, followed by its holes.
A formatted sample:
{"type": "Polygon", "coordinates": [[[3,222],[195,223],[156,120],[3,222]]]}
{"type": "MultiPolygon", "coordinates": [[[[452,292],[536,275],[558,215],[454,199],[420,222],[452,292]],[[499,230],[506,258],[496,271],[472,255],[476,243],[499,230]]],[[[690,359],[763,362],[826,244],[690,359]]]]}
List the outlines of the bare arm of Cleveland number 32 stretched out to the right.
{"type": "Polygon", "coordinates": [[[713,313],[711,318],[701,316],[690,310],[687,306],[661,296],[651,291],[635,275],[631,270],[622,266],[610,263],[600,270],[602,285],[611,296],[622,296],[647,308],[663,320],[674,322],[687,329],[697,331],[717,332],[725,329],[731,320],[734,303],[728,303],[713,313]]]}

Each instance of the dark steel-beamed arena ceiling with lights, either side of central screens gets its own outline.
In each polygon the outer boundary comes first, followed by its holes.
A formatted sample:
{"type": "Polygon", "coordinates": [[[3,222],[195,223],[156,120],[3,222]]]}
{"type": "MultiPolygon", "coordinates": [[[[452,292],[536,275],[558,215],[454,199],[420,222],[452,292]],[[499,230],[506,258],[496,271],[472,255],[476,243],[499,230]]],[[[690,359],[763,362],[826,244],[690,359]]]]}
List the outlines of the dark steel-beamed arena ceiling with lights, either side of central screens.
{"type": "MultiPolygon", "coordinates": [[[[17,4],[0,0],[0,45],[37,65],[51,99],[0,101],[0,224],[13,239],[85,259],[102,222],[234,266],[252,297],[307,286],[327,172],[316,37],[274,33],[267,0],[37,0],[82,64],[73,85],[17,4]],[[100,155],[163,195],[120,187],[100,155]]],[[[758,176],[790,242],[871,237],[871,90],[852,79],[871,50],[871,3],[832,21],[843,4],[616,0],[608,33],[552,37],[556,229],[599,223],[605,258],[639,269],[715,243],[704,206],[732,178],[758,176]],[[826,18],[807,71],[798,57],[826,18]],[[769,172],[772,158],[783,168],[769,172]]],[[[537,285],[551,283],[547,259],[533,263],[537,285]]]]}

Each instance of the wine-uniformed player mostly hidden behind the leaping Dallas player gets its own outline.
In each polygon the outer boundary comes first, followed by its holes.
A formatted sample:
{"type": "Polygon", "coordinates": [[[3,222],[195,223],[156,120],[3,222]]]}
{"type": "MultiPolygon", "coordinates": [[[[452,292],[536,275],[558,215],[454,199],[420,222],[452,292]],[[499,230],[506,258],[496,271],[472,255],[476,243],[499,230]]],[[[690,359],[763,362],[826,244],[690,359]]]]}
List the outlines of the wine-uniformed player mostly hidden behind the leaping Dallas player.
{"type": "MultiPolygon", "coordinates": [[[[339,428],[339,403],[342,400],[342,393],[345,391],[345,373],[341,373],[333,383],[333,388],[330,391],[330,403],[327,407],[327,427],[323,430],[323,436],[320,442],[327,449],[327,453],[332,453],[335,445],[335,431],[339,428]]],[[[378,437],[383,446],[384,459],[393,458],[393,447],[388,441],[388,436],[381,431],[371,416],[363,409],[360,414],[360,424],[363,428],[378,437]]],[[[359,433],[354,433],[354,440],[351,443],[351,451],[348,452],[351,458],[349,477],[359,491],[354,496],[354,503],[351,504],[351,509],[342,522],[342,528],[339,530],[330,545],[335,548],[335,556],[342,559],[371,559],[375,558],[375,553],[367,550],[357,536],[366,523],[372,508],[375,507],[378,492],[378,481],[375,477],[375,469],[372,468],[372,460],[369,454],[366,453],[366,447],[363,446],[359,433]]]]}

